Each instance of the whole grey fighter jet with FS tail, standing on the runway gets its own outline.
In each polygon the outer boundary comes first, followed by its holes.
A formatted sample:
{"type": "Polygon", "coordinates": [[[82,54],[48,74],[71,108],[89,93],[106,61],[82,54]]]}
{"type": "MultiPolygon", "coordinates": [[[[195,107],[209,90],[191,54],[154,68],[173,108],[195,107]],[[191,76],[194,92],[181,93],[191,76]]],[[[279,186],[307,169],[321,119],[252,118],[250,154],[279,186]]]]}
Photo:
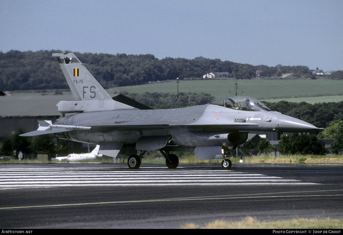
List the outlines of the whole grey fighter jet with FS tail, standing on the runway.
{"type": "Polygon", "coordinates": [[[36,131],[21,136],[55,133],[59,139],[99,144],[99,154],[127,155],[130,169],[143,157],[159,151],[175,169],[179,159],[170,151],[194,151],[198,159],[223,159],[232,165],[227,149],[236,149],[249,131],[306,132],[319,129],[305,121],[271,111],[257,99],[224,98],[205,105],[174,109],[141,110],[115,101],[73,53],[56,57],[75,101],[57,104],[60,113],[76,113],[54,124],[40,120],[36,131]]]}

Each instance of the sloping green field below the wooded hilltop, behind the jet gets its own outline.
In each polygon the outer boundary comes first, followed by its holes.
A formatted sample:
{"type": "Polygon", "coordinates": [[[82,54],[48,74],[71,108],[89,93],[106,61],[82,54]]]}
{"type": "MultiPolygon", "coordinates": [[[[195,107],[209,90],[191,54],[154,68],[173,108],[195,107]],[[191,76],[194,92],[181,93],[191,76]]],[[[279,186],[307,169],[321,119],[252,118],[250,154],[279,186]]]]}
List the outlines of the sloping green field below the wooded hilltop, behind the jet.
{"type": "MultiPolygon", "coordinates": [[[[328,80],[328,79],[299,79],[299,80],[259,80],[259,79],[244,79],[237,80],[237,93],[243,96],[250,96],[260,100],[270,99],[288,99],[299,97],[326,97],[325,101],[317,98],[315,103],[342,101],[343,95],[343,80],[328,80]],[[243,92],[243,94],[242,94],[243,92]],[[331,97],[335,96],[335,97],[331,97]]],[[[151,83],[137,86],[114,87],[107,90],[110,94],[115,92],[120,93],[127,91],[129,93],[144,93],[144,92],[169,92],[176,93],[177,85],[175,81],[151,83]]],[[[179,92],[204,92],[215,96],[216,100],[235,96],[235,80],[193,80],[180,81],[179,92]]],[[[239,94],[238,94],[239,95],[239,94]]],[[[303,100],[295,99],[294,102],[303,100]]],[[[305,100],[304,100],[305,101],[305,100]]],[[[306,99],[306,102],[313,103],[312,98],[306,99]]]]}

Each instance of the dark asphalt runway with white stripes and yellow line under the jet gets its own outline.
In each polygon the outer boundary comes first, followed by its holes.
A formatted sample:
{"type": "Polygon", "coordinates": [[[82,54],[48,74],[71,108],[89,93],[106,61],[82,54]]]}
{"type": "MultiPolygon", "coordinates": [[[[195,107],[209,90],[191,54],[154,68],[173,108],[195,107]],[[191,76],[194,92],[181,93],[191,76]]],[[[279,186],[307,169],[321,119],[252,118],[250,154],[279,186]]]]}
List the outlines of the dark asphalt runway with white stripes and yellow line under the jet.
{"type": "Polygon", "coordinates": [[[0,165],[1,228],[180,228],[343,218],[342,164],[0,165]]]}

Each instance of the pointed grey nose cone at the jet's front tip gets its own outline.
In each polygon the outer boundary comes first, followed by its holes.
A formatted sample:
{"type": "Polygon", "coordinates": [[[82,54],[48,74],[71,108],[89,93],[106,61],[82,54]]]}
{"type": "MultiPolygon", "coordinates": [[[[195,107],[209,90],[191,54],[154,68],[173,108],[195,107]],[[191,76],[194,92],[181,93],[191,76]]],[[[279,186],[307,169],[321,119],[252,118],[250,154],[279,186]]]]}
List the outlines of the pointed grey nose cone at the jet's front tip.
{"type": "Polygon", "coordinates": [[[276,130],[280,132],[306,132],[317,130],[312,124],[300,119],[281,114],[276,120],[276,130]]]}

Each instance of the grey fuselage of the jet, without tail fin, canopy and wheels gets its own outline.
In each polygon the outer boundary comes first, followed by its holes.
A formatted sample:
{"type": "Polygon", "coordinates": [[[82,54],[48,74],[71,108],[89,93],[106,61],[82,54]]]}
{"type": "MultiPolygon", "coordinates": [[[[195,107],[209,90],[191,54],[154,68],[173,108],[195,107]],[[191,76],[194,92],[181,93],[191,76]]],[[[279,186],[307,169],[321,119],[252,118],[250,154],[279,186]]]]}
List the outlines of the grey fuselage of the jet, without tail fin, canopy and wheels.
{"type": "Polygon", "coordinates": [[[92,127],[90,131],[56,134],[58,138],[72,141],[132,145],[142,136],[171,136],[178,146],[227,146],[230,145],[226,143],[227,134],[239,131],[304,132],[317,129],[305,121],[274,111],[236,110],[212,104],[79,113],[59,118],[54,124],[92,127]]]}

